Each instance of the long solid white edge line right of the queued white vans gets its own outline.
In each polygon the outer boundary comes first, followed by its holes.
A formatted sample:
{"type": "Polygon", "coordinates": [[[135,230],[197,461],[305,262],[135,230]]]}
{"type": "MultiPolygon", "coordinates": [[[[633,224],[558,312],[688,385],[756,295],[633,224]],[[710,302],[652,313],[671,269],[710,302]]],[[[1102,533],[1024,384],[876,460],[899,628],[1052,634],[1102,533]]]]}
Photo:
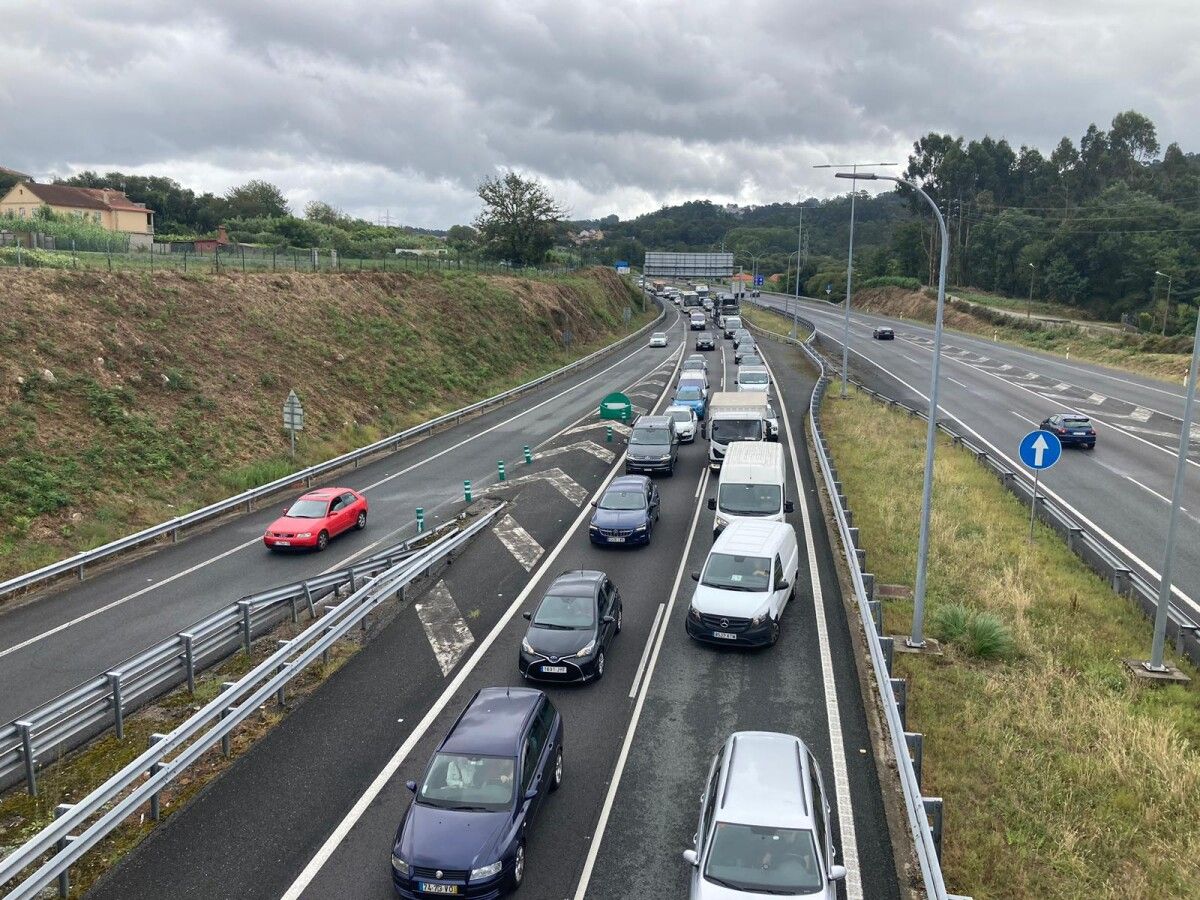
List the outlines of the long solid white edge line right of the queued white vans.
{"type": "MultiPolygon", "coordinates": [[[[767,360],[763,359],[766,365],[767,360]]],[[[779,384],[770,366],[773,384],[779,384]]],[[[787,433],[787,449],[792,458],[792,476],[796,479],[796,492],[799,494],[800,516],[804,520],[804,544],[809,554],[809,577],[812,582],[812,600],[816,604],[817,646],[821,653],[821,680],[824,683],[826,718],[829,725],[829,751],[833,756],[833,780],[838,788],[838,828],[841,832],[841,862],[846,866],[846,898],[862,900],[863,878],[858,864],[858,836],[854,830],[854,809],[850,797],[850,770],[846,767],[846,739],[841,733],[841,710],[838,707],[838,686],[833,671],[833,654],[829,650],[829,610],[826,607],[824,592],[821,589],[821,570],[817,562],[817,548],[812,540],[812,521],[809,516],[809,504],[805,500],[804,479],[800,475],[800,463],[796,456],[796,436],[787,416],[787,403],[779,401],[779,414],[784,418],[784,431],[787,433]]]]}

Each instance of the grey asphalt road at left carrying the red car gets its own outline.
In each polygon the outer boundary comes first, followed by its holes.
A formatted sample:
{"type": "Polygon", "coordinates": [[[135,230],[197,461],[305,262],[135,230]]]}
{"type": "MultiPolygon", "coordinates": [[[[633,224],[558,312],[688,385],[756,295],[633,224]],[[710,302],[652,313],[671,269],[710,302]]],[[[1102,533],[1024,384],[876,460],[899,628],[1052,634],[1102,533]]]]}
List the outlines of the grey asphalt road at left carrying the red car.
{"type": "MultiPolygon", "coordinates": [[[[667,320],[678,311],[667,305],[667,320]]],[[[364,491],[368,524],[320,554],[281,554],[262,544],[266,526],[295,494],[234,516],[178,545],[124,558],[83,582],[0,607],[0,721],[11,721],[62,691],[242,596],[341,568],[415,533],[415,509],[432,526],[462,500],[463,480],[476,492],[497,479],[497,461],[518,474],[522,446],[553,436],[564,421],[595,409],[605,394],[656,364],[661,349],[631,344],[587,371],[439,432],[331,484],[364,491]]],[[[644,404],[644,397],[635,397],[644,404]]],[[[601,438],[602,440],[602,438],[601,438]]],[[[316,485],[320,486],[320,485],[316,485]]]]}

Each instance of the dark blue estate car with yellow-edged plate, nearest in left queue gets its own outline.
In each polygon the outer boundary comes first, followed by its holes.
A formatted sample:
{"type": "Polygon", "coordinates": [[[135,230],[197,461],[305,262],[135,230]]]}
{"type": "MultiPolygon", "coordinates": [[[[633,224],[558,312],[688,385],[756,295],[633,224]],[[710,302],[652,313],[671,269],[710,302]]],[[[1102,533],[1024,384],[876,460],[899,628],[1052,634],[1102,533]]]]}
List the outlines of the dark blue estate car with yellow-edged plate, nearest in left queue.
{"type": "Polygon", "coordinates": [[[530,688],[484,688],[430,760],[396,832],[402,898],[491,900],[526,871],[526,830],[563,784],[563,718],[530,688]]]}

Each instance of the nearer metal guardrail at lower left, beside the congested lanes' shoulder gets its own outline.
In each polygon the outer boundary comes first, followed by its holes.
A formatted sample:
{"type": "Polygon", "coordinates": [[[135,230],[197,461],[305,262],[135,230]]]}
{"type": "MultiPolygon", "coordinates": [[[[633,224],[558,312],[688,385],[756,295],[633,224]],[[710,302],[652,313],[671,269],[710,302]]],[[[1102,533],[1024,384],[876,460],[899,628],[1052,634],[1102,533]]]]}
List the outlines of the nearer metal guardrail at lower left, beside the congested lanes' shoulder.
{"type": "Polygon", "coordinates": [[[505,505],[498,504],[466,528],[438,539],[373,576],[174,731],[155,734],[144,754],[85,798],[74,804],[60,805],[54,822],[0,859],[0,884],[41,863],[6,894],[6,900],[28,900],[55,882],[59,883],[60,892],[65,893],[70,866],[84,853],[146,802],[150,803],[151,817],[156,818],[160,811],[158,794],[167,785],[210,748],[220,743],[222,749],[227,749],[226,742],[233,731],[263,703],[269,702],[272,696],[282,696],[288,682],[323,656],[379,604],[467,544],[505,505]]]}

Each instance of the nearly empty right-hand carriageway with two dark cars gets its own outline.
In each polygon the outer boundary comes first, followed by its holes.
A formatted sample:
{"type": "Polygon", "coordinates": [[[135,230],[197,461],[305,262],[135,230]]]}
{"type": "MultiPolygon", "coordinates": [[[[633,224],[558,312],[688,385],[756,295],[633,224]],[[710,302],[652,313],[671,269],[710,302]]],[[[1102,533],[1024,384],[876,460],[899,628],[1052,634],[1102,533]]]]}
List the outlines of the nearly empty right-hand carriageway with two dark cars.
{"type": "MultiPolygon", "coordinates": [[[[763,294],[760,302],[788,312],[794,304],[779,294],[763,294]]],[[[840,362],[844,307],[802,298],[799,314],[817,326],[822,347],[840,362]]],[[[928,404],[932,337],[929,325],[852,311],[847,342],[852,377],[898,400],[928,404]],[[874,340],[876,325],[894,328],[896,340],[874,340]]],[[[1025,472],[1018,458],[1021,437],[1045,416],[1079,410],[1092,418],[1096,449],[1064,449],[1062,460],[1042,473],[1039,492],[1123,548],[1157,582],[1178,460],[1183,388],[956,331],[946,331],[942,343],[941,415],[959,422],[1013,472],[1025,472]]],[[[1193,425],[1190,437],[1195,454],[1200,427],[1193,425]]],[[[1176,605],[1200,623],[1200,463],[1195,460],[1189,460],[1183,505],[1172,593],[1176,605]]],[[[1146,647],[1148,653],[1148,629],[1146,647]]]]}

